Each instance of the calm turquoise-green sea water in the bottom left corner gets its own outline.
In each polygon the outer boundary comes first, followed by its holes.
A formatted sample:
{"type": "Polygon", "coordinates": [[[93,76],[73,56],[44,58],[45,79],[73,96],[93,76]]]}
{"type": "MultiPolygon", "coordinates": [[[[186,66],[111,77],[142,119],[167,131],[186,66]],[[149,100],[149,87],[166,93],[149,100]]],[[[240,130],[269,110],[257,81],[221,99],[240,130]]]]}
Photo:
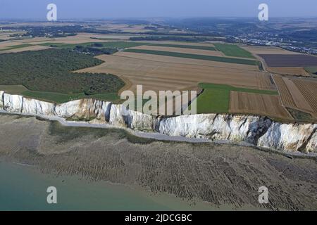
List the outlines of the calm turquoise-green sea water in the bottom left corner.
{"type": "Polygon", "coordinates": [[[0,210],[210,210],[206,203],[140,188],[88,181],[77,176],[43,174],[30,165],[0,161],[0,210]],[[46,189],[57,188],[57,204],[48,204],[46,189]]]}

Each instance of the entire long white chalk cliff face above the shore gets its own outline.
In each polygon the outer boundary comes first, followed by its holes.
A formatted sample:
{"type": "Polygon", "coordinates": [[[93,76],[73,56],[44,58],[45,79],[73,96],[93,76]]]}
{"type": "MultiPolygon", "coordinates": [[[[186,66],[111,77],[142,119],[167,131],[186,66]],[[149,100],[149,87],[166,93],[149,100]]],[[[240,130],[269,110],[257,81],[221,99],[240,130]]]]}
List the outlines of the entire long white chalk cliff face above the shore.
{"type": "Polygon", "coordinates": [[[29,113],[105,123],[169,136],[241,141],[264,148],[317,153],[317,124],[281,124],[267,117],[200,114],[155,118],[127,110],[123,105],[91,98],[63,104],[48,103],[0,91],[0,108],[9,113],[29,113]]]}

